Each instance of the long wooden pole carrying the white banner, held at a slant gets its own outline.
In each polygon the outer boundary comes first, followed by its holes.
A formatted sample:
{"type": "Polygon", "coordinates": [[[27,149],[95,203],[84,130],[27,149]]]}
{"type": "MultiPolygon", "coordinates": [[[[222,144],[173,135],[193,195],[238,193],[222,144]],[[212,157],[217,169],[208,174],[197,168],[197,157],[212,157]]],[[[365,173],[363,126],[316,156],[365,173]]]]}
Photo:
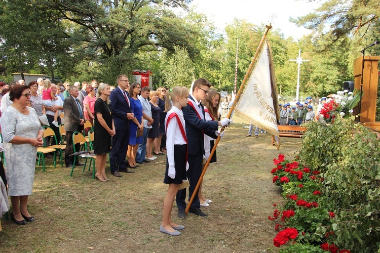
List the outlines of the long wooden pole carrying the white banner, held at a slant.
{"type": "MultiPolygon", "coordinates": [[[[243,79],[243,81],[242,81],[242,85],[240,86],[239,91],[238,91],[238,93],[237,93],[236,96],[235,96],[234,103],[232,104],[232,106],[231,106],[231,108],[230,108],[230,111],[229,111],[229,113],[227,114],[227,118],[230,118],[230,117],[231,117],[231,114],[232,114],[233,110],[235,109],[236,103],[239,101],[239,98],[240,98],[240,95],[241,95],[241,93],[242,93],[242,91],[243,91],[243,89],[244,89],[245,83],[246,83],[247,80],[248,80],[248,77],[249,77],[249,75],[250,75],[250,73],[251,73],[251,71],[252,71],[253,65],[254,65],[255,62],[256,62],[257,56],[258,56],[258,54],[259,54],[260,51],[261,51],[262,45],[264,44],[265,38],[267,37],[267,34],[268,34],[269,30],[272,28],[272,25],[269,24],[269,25],[266,25],[265,27],[266,27],[267,29],[265,29],[265,32],[264,32],[264,34],[262,35],[262,38],[261,38],[261,40],[260,40],[260,43],[258,44],[258,47],[257,47],[257,49],[256,49],[256,53],[254,54],[253,59],[252,59],[252,61],[251,61],[251,64],[249,64],[249,67],[248,67],[247,73],[246,73],[245,76],[244,76],[244,79],[243,79]]],[[[224,128],[225,128],[225,126],[222,127],[222,129],[220,130],[220,132],[223,132],[223,131],[224,131],[224,128]]],[[[207,167],[208,167],[208,165],[210,164],[211,158],[212,158],[213,154],[215,153],[215,149],[216,149],[216,147],[218,146],[219,140],[220,140],[220,136],[218,136],[218,138],[217,138],[216,141],[215,141],[214,147],[212,148],[212,150],[211,150],[211,152],[210,152],[210,156],[208,157],[207,162],[206,162],[206,164],[205,164],[205,167],[203,168],[203,171],[202,171],[201,177],[200,177],[199,180],[198,180],[198,183],[197,183],[197,186],[196,186],[195,189],[194,189],[193,195],[192,195],[192,197],[190,198],[190,200],[188,201],[188,205],[186,206],[186,209],[185,209],[185,214],[187,214],[188,209],[190,209],[190,206],[191,206],[191,204],[193,203],[193,200],[194,200],[194,198],[195,198],[195,196],[196,196],[196,194],[197,194],[197,192],[198,192],[199,186],[201,185],[201,182],[202,182],[203,176],[205,175],[206,170],[207,170],[207,167]]]]}

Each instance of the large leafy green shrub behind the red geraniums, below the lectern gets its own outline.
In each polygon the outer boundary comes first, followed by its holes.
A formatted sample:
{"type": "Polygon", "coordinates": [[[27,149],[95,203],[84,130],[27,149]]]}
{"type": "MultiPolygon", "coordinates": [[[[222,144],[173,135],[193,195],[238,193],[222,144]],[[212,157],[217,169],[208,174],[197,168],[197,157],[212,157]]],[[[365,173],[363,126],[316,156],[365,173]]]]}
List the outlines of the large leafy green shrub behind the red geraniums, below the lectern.
{"type": "Polygon", "coordinates": [[[360,123],[336,118],[313,122],[304,135],[300,161],[322,172],[334,235],[329,241],[355,252],[373,252],[380,241],[380,141],[360,123]]]}

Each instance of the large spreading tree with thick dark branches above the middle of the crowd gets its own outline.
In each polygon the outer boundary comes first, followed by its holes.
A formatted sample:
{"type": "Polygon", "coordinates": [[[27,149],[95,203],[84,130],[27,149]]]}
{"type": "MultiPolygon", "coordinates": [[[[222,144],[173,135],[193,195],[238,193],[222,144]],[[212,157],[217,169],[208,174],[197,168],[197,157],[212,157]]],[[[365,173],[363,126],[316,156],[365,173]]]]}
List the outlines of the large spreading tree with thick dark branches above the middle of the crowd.
{"type": "Polygon", "coordinates": [[[76,48],[87,59],[102,64],[105,81],[113,81],[120,73],[130,72],[140,51],[185,47],[190,56],[196,55],[189,45],[193,35],[184,21],[167,7],[187,8],[190,0],[53,0],[49,8],[57,10],[61,19],[77,27],[69,33],[71,39],[83,42],[76,48]]]}

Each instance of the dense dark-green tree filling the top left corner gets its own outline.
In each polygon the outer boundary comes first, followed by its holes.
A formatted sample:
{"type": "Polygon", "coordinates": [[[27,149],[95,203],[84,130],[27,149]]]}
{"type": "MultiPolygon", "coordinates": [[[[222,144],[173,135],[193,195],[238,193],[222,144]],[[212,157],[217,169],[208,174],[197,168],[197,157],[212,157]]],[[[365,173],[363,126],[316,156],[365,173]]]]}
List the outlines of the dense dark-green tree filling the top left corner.
{"type": "Polygon", "coordinates": [[[59,56],[68,50],[67,27],[58,13],[32,0],[2,1],[0,10],[0,50],[8,69],[23,73],[41,65],[54,76],[60,62],[67,59],[59,61],[59,56]]]}

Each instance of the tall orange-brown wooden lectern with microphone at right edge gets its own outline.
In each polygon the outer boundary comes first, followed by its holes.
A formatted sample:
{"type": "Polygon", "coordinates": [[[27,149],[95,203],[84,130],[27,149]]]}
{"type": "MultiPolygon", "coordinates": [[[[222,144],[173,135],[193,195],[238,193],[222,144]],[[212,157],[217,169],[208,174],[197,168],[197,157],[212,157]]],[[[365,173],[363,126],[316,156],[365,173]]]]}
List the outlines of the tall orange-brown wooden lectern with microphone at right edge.
{"type": "MultiPolygon", "coordinates": [[[[364,56],[363,68],[363,98],[361,103],[354,109],[354,113],[360,113],[360,122],[367,123],[370,128],[380,129],[380,122],[375,122],[376,116],[376,97],[378,86],[378,61],[380,56],[364,56]]],[[[355,89],[360,92],[362,79],[363,56],[354,60],[355,89]]]]}

